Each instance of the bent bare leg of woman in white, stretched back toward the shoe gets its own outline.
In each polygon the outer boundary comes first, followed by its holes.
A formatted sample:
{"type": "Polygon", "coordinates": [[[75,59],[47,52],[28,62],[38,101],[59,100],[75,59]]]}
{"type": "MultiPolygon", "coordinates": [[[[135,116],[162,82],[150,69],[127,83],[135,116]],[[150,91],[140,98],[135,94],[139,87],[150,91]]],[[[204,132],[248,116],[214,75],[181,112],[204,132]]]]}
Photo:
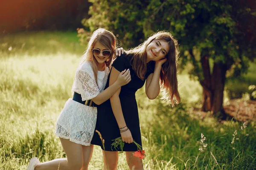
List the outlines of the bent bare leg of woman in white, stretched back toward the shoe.
{"type": "Polygon", "coordinates": [[[35,166],[35,170],[80,170],[83,164],[83,148],[81,144],[60,138],[67,159],[54,159],[35,166]]]}

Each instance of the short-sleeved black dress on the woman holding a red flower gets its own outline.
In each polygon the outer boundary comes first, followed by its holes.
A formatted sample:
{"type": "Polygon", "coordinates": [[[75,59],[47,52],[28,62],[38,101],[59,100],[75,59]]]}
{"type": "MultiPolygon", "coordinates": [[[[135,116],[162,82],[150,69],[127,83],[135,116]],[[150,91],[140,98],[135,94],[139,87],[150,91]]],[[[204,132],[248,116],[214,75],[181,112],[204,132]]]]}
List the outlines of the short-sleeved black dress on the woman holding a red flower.
{"type": "MultiPolygon", "coordinates": [[[[131,82],[121,87],[119,98],[122,106],[122,113],[125,119],[125,123],[127,127],[130,129],[134,141],[142,146],[140,134],[140,121],[137,102],[135,98],[135,92],[139,88],[143,87],[145,80],[138,78],[137,75],[135,74],[131,66],[131,57],[131,55],[129,56],[127,54],[122,54],[120,57],[117,57],[117,59],[113,62],[112,67],[116,68],[116,70],[120,72],[128,68],[131,71],[131,82]]],[[[149,74],[153,72],[154,62],[148,62],[145,78],[147,78],[149,74]]],[[[109,86],[110,74],[108,76],[108,81],[105,89],[109,86]]],[[[110,100],[108,99],[106,102],[102,103],[101,105],[98,105],[97,109],[98,113],[95,130],[99,130],[99,132],[102,134],[102,138],[105,140],[105,150],[121,151],[120,148],[119,150],[116,150],[114,147],[111,148],[111,144],[113,143],[112,140],[120,137],[121,134],[119,131],[118,124],[116,122],[116,118],[111,108],[110,100]]],[[[98,133],[94,133],[91,144],[96,144],[102,147],[102,142],[99,138],[98,133]]],[[[137,151],[137,146],[134,143],[125,143],[123,151],[137,151]]]]}

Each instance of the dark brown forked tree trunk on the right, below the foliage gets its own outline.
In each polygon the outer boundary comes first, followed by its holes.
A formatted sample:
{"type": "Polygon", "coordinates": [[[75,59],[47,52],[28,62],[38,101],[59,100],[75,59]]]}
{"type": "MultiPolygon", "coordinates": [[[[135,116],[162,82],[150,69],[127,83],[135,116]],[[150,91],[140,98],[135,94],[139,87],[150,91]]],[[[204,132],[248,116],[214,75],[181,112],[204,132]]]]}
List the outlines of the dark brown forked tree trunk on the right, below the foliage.
{"type": "Polygon", "coordinates": [[[223,110],[227,65],[214,63],[211,74],[207,56],[201,58],[201,64],[204,72],[204,79],[200,82],[203,86],[203,106],[201,110],[211,111],[211,113],[221,112],[223,110]]]}

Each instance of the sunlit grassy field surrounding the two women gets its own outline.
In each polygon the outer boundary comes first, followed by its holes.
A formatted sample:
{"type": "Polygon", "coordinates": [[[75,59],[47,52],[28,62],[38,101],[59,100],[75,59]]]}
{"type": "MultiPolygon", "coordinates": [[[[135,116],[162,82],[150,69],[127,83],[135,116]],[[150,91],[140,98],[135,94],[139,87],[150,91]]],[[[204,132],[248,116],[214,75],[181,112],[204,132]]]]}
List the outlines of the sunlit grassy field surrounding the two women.
{"type": "MultiPolygon", "coordinates": [[[[55,121],[72,97],[85,47],[70,32],[7,35],[0,46],[0,169],[26,170],[33,156],[42,162],[65,157],[54,135],[55,121]]],[[[241,130],[243,122],[218,121],[208,113],[201,119],[191,107],[201,105],[201,86],[185,73],[179,82],[182,103],[175,108],[147,99],[144,88],[136,94],[145,169],[256,169],[255,122],[241,130]]],[[[94,147],[89,169],[101,170],[102,160],[101,149],[94,147]]],[[[124,153],[119,153],[118,169],[128,170],[124,153]]]]}

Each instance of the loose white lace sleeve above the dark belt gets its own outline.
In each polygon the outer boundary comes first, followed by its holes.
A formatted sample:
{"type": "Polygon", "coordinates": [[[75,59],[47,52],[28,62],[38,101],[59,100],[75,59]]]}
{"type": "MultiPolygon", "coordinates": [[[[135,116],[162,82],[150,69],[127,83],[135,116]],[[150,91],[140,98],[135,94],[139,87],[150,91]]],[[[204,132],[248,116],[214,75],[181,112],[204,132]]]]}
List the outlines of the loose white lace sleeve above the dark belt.
{"type": "Polygon", "coordinates": [[[82,101],[92,99],[100,93],[94,77],[92,78],[86,71],[76,71],[77,85],[82,97],[82,101]]]}

